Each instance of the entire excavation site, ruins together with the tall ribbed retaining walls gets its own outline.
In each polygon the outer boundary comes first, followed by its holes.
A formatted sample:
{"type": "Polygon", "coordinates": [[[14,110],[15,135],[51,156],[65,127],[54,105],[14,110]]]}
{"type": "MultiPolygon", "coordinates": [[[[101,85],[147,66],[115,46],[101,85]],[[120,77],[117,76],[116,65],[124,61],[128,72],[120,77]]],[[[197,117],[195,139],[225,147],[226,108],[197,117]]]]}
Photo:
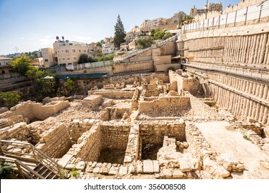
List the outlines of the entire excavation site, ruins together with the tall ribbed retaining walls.
{"type": "Polygon", "coordinates": [[[0,108],[23,179],[269,179],[269,1],[87,71],[88,96],[0,108]]]}

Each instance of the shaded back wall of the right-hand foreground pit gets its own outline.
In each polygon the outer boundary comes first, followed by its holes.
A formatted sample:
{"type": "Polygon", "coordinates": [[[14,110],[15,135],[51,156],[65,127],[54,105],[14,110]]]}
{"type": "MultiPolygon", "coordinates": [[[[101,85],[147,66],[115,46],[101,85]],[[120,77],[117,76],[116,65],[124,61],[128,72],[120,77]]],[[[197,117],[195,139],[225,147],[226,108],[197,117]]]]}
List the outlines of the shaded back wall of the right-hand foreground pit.
{"type": "Polygon", "coordinates": [[[163,136],[175,136],[178,141],[186,141],[183,121],[141,121],[139,130],[142,143],[163,143],[163,136]]]}

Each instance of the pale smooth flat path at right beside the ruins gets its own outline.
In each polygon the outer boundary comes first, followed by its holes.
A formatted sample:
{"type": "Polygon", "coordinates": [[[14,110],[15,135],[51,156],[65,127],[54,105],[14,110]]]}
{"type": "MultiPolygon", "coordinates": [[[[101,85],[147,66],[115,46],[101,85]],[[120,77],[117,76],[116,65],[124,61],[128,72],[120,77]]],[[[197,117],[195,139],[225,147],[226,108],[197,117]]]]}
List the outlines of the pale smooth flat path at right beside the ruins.
{"type": "Polygon", "coordinates": [[[246,170],[243,174],[232,174],[233,179],[269,179],[269,170],[260,167],[259,160],[269,156],[259,147],[232,128],[226,121],[195,123],[210,143],[212,150],[219,153],[231,152],[243,162],[246,170]]]}

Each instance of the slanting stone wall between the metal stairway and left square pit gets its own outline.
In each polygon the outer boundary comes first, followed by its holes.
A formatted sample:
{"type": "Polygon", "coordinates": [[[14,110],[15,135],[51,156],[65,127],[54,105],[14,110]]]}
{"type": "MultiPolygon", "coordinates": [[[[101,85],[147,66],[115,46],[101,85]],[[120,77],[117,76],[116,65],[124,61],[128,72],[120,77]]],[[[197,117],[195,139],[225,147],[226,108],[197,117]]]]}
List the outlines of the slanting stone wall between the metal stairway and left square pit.
{"type": "Polygon", "coordinates": [[[61,158],[68,152],[72,143],[65,123],[56,123],[50,130],[41,134],[36,147],[52,158],[61,158]]]}

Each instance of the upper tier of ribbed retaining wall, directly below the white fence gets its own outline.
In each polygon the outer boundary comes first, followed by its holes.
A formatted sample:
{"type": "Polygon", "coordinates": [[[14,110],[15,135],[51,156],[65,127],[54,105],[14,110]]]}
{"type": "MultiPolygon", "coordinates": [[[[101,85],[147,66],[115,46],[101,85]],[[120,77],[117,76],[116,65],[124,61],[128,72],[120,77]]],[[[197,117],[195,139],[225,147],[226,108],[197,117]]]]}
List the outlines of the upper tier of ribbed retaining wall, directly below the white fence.
{"type": "Polygon", "coordinates": [[[235,30],[235,32],[234,28],[228,28],[230,31],[227,31],[226,35],[224,35],[224,31],[220,31],[210,33],[209,37],[190,33],[188,39],[184,40],[183,43],[178,41],[177,49],[181,53],[183,50],[183,55],[193,58],[192,61],[240,63],[268,68],[268,26],[269,23],[263,24],[263,26],[258,25],[257,28],[254,27],[254,30],[249,26],[241,27],[240,30],[235,30]]]}

